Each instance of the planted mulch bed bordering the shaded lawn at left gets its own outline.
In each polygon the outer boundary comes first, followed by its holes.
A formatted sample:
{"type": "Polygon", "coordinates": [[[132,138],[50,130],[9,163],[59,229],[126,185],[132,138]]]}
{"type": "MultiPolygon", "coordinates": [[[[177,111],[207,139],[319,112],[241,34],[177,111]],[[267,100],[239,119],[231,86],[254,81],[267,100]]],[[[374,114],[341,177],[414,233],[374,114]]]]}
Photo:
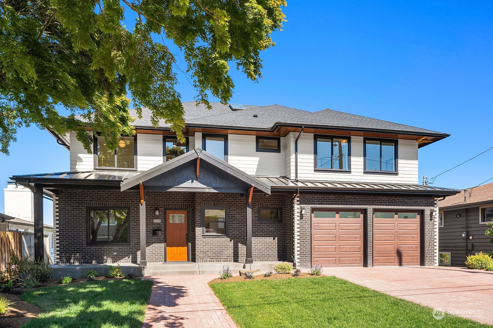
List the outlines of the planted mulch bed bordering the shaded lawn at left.
{"type": "MultiPolygon", "coordinates": [[[[119,278],[107,278],[107,277],[95,278],[95,280],[98,281],[112,280],[112,279],[119,279],[119,278]]],[[[86,281],[87,281],[86,278],[72,278],[70,284],[78,284],[86,281]]],[[[36,288],[59,286],[61,284],[62,284],[62,279],[50,279],[46,283],[36,288]]],[[[27,323],[29,320],[36,318],[39,315],[39,313],[41,313],[41,308],[21,300],[22,293],[36,288],[16,289],[12,291],[12,294],[0,293],[1,297],[7,298],[8,300],[15,302],[15,304],[9,308],[10,310],[9,313],[0,315],[1,328],[19,328],[25,323],[27,323]]]]}

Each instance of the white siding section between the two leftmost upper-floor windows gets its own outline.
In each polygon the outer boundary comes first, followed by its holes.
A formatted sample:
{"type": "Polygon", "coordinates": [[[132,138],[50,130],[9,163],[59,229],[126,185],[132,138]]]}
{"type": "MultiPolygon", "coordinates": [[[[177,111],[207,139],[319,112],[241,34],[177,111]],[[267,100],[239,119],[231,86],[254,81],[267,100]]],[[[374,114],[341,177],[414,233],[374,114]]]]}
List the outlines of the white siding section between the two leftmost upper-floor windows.
{"type": "Polygon", "coordinates": [[[137,169],[146,171],[163,163],[163,136],[137,134],[137,169]]]}

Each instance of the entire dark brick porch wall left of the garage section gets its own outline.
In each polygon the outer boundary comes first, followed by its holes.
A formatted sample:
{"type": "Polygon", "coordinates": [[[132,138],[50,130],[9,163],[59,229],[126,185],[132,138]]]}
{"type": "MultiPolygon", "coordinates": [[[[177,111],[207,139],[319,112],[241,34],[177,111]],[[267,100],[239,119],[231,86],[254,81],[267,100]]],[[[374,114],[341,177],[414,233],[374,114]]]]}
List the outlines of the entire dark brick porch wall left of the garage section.
{"type": "MultiPolygon", "coordinates": [[[[291,260],[291,195],[254,194],[252,199],[252,253],[254,261],[291,260]],[[282,223],[259,223],[259,207],[283,208],[282,223]]],[[[140,261],[139,191],[64,190],[53,199],[55,263],[106,264],[140,261]],[[130,242],[88,244],[88,207],[130,207],[130,242]]],[[[149,191],[146,196],[147,262],[164,261],[166,209],[190,209],[191,261],[245,261],[246,199],[241,194],[149,191]],[[227,206],[228,237],[202,237],[202,206],[227,206]],[[155,209],[159,215],[155,215],[155,209]],[[161,219],[161,223],[154,223],[161,219]],[[162,229],[162,236],[152,236],[162,229]]]]}

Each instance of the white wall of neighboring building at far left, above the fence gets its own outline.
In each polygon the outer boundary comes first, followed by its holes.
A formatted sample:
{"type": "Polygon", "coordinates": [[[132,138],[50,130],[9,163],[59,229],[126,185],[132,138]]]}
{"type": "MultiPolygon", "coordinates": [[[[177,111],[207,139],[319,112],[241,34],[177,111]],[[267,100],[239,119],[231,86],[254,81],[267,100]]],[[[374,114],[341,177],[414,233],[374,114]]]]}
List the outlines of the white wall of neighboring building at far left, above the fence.
{"type": "Polygon", "coordinates": [[[3,196],[4,214],[18,219],[34,221],[34,195],[31,190],[10,183],[3,189],[3,196]]]}

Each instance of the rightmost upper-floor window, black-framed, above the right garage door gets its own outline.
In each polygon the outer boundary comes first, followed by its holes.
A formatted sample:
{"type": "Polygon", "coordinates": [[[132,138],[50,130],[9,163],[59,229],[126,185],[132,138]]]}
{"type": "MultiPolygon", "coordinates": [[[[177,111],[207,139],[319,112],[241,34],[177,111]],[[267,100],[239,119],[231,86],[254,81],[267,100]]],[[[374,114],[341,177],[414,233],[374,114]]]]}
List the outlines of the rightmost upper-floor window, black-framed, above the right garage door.
{"type": "Polygon", "coordinates": [[[365,140],[365,171],[397,172],[397,142],[365,140]]]}

